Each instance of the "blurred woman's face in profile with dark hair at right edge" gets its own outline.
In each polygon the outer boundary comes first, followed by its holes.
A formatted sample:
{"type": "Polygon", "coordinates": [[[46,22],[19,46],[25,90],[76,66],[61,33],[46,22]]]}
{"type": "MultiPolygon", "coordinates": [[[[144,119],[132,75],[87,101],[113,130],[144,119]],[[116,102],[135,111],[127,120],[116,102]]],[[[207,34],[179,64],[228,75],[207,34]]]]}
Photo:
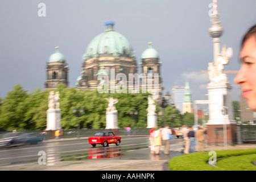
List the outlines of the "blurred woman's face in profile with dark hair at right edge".
{"type": "Polygon", "coordinates": [[[242,40],[240,61],[242,66],[234,82],[242,86],[242,96],[246,98],[248,106],[256,111],[256,24],[242,40]]]}

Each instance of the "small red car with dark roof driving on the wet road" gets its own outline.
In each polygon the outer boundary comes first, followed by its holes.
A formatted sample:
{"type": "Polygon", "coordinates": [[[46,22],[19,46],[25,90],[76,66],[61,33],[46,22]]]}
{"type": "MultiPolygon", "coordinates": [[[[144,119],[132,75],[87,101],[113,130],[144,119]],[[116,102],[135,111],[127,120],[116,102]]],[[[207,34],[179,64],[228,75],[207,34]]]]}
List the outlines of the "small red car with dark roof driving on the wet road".
{"type": "Polygon", "coordinates": [[[115,136],[112,131],[97,132],[93,137],[88,138],[88,143],[93,147],[96,144],[102,144],[104,147],[108,147],[110,143],[115,143],[117,146],[121,143],[121,137],[115,136]]]}

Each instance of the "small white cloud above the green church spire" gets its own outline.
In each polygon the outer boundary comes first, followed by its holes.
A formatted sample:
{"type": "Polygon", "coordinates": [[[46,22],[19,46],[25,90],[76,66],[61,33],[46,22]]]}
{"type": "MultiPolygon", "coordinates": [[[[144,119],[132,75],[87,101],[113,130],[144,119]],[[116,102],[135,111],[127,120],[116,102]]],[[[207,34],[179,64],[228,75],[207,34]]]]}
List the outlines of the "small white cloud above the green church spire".
{"type": "Polygon", "coordinates": [[[200,82],[200,83],[204,83],[204,82],[209,82],[209,76],[208,73],[200,73],[200,72],[184,72],[181,75],[183,78],[185,78],[185,80],[188,81],[195,81],[195,82],[200,82]]]}

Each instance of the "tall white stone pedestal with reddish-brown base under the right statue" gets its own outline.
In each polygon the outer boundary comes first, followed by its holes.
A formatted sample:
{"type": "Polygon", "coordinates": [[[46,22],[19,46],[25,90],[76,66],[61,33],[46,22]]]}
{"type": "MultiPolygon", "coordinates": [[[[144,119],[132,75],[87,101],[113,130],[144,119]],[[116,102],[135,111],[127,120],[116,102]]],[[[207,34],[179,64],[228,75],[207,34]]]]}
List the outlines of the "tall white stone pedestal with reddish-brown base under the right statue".
{"type": "Polygon", "coordinates": [[[227,143],[237,142],[237,123],[233,119],[232,86],[228,82],[208,84],[209,121],[208,144],[223,145],[226,125],[227,143]]]}

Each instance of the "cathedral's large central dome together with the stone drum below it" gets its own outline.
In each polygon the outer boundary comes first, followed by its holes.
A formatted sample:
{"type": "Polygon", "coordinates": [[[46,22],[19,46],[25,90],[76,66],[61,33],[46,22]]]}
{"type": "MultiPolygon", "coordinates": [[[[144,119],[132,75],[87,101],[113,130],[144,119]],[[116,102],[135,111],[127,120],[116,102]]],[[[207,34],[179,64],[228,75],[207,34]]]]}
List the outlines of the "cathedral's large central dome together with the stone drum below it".
{"type": "MultiPolygon", "coordinates": [[[[82,56],[82,76],[76,81],[79,89],[97,89],[99,75],[110,77],[119,73],[129,77],[137,73],[137,61],[129,41],[114,31],[114,22],[105,23],[105,31],[95,36],[82,56]]],[[[114,76],[114,77],[115,77],[114,76]]],[[[118,80],[114,81],[117,84],[118,80]]],[[[113,82],[109,82],[109,86],[113,82]]]]}

